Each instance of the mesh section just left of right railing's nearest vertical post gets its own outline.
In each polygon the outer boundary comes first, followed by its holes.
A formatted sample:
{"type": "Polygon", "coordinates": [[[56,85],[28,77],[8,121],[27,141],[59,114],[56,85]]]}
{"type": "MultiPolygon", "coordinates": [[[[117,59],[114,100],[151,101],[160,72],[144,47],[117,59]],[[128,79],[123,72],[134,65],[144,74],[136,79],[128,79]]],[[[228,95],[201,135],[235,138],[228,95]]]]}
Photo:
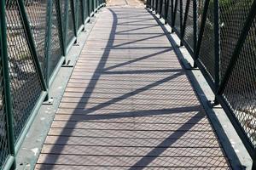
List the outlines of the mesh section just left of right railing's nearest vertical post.
{"type": "Polygon", "coordinates": [[[207,11],[206,26],[204,29],[203,37],[201,40],[201,48],[199,59],[205,66],[206,71],[209,73],[212,80],[214,80],[215,71],[215,56],[214,56],[214,5],[213,2],[209,3],[207,11]]]}

